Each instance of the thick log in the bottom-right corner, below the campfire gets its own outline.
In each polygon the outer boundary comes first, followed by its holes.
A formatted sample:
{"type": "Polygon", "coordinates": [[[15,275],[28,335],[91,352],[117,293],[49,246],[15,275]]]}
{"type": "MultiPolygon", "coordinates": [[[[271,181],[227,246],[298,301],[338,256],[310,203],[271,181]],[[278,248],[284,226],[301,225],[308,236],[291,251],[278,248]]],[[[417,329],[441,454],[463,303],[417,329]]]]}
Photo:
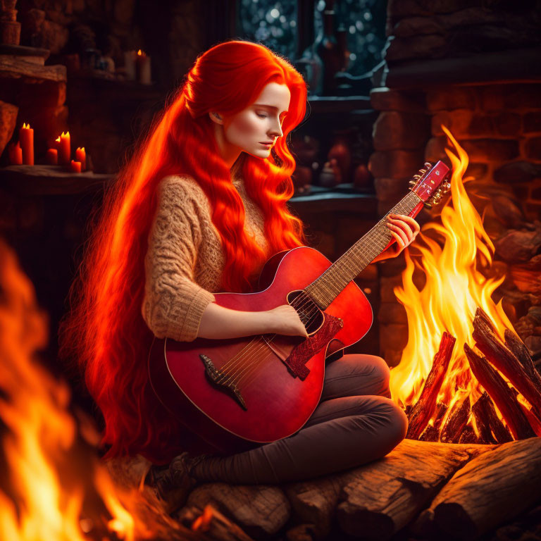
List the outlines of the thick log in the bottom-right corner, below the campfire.
{"type": "Polygon", "coordinates": [[[435,497],[425,519],[457,539],[474,539],[539,501],[541,438],[509,442],[476,456],[435,497]],[[520,495],[520,497],[517,497],[520,495]]]}

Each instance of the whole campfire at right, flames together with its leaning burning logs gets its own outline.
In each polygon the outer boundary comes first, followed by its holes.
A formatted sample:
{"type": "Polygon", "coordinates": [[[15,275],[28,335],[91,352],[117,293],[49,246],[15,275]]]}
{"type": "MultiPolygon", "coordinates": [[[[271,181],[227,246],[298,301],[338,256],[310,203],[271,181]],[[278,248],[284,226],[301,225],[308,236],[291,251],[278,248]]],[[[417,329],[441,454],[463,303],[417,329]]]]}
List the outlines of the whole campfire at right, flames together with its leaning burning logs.
{"type": "Polygon", "coordinates": [[[485,278],[478,270],[492,264],[494,245],[464,188],[472,180],[463,180],[468,156],[442,129],[456,151],[446,150],[452,198],[442,223],[423,227],[420,261],[406,254],[403,285],[395,289],[408,316],[409,341],[391,371],[392,395],[409,413],[408,437],[414,439],[501,443],[539,435],[539,375],[501,301],[492,301],[505,277],[485,278]],[[415,269],[426,278],[421,290],[413,283],[415,269]]]}

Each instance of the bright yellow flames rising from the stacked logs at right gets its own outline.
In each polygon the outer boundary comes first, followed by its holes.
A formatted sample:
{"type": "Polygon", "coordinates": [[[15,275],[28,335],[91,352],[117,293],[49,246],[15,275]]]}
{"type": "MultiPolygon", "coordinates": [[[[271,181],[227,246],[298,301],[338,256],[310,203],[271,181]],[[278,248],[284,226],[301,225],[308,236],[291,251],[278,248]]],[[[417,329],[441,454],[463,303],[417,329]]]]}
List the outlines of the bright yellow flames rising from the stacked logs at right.
{"type": "Polygon", "coordinates": [[[447,330],[456,337],[456,344],[437,402],[447,404],[449,413],[464,393],[473,404],[482,392],[471,375],[463,349],[464,343],[475,347],[471,338],[475,309],[480,306],[490,316],[500,338],[512,325],[501,301],[495,304],[491,299],[505,277],[485,278],[478,270],[480,265],[492,264],[494,245],[464,188],[465,182],[473,180],[464,178],[468,155],[449,130],[444,126],[442,129],[456,151],[454,154],[446,149],[452,162],[452,197],[442,209],[441,224],[430,222],[423,226],[419,235],[422,243],[416,244],[421,259],[413,261],[406,253],[402,287],[394,289],[406,309],[409,338],[399,365],[391,371],[390,387],[399,405],[414,404],[432,367],[442,333],[447,330]],[[413,284],[415,268],[426,278],[421,290],[413,284]]]}

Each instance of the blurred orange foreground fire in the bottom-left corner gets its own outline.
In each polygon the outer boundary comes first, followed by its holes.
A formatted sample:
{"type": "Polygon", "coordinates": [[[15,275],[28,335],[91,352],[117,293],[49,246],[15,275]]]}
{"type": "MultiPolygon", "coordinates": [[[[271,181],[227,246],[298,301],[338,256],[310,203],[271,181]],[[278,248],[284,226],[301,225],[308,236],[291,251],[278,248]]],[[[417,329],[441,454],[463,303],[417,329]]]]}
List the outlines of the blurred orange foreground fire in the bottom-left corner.
{"type": "Polygon", "coordinates": [[[94,429],[70,413],[68,386],[32,359],[46,341],[32,283],[0,240],[0,537],[133,541],[175,531],[182,538],[157,500],[137,483],[119,487],[82,440],[94,429]]]}

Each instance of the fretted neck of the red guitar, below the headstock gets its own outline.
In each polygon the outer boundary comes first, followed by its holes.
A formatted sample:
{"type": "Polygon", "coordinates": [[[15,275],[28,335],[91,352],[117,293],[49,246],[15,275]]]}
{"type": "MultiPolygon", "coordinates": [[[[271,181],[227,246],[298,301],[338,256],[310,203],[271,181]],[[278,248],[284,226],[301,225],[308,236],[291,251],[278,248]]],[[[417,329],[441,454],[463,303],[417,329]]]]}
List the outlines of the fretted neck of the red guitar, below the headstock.
{"type": "Polygon", "coordinates": [[[409,192],[366,235],[361,237],[335,263],[332,263],[319,278],[305,287],[304,291],[319,308],[325,310],[349,282],[381,254],[392,240],[391,232],[385,225],[387,216],[389,214],[416,216],[422,206],[422,199],[415,193],[409,192]]]}

